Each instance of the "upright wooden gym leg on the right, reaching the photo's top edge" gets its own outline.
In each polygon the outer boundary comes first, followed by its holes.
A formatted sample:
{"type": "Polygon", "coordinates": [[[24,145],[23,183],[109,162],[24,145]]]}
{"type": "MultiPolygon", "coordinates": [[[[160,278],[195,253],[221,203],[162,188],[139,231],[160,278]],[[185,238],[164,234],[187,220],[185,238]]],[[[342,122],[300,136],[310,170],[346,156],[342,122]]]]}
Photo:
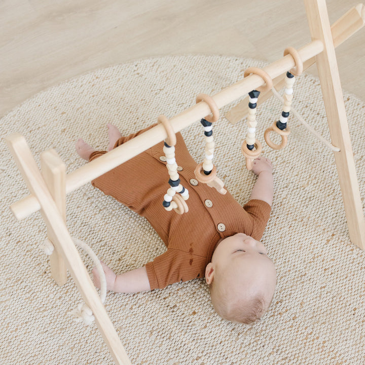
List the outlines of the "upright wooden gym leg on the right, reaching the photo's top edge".
{"type": "Polygon", "coordinates": [[[312,39],[324,45],[323,52],[316,56],[316,64],[332,143],[341,150],[335,152],[335,159],[349,235],[352,243],[365,249],[365,220],[329,16],[324,0],[305,0],[304,3],[312,39]]]}

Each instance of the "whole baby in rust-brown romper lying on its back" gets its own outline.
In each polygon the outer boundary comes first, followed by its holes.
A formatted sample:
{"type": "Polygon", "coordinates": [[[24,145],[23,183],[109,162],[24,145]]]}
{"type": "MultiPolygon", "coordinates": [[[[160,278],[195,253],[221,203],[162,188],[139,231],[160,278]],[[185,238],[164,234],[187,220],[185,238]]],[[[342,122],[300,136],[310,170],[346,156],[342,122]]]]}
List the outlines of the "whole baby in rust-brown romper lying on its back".
{"type": "MultiPolygon", "coordinates": [[[[152,127],[123,137],[108,125],[108,150],[152,127]]],[[[166,211],[162,205],[169,188],[161,158],[163,142],[92,181],[147,218],[167,247],[152,262],[119,275],[102,263],[107,289],[136,293],[205,276],[215,311],[230,321],[251,323],[268,310],[276,285],[275,266],[260,242],[273,201],[272,164],[265,157],[254,160],[252,171],[258,178],[241,207],[229,192],[222,195],[195,179],[196,162],[180,133],[176,138],[180,183],[189,190],[187,213],[166,211]]],[[[95,151],[83,139],[77,141],[76,150],[90,161],[106,153],[95,151]]],[[[100,287],[96,270],[93,277],[100,287]]]]}

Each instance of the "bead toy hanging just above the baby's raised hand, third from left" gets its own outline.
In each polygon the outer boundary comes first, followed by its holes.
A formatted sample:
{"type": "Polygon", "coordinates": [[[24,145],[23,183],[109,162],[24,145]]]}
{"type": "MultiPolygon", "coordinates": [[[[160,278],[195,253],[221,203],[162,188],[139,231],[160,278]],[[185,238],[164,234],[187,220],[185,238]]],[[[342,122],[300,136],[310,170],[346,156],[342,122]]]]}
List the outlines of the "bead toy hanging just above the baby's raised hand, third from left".
{"type": "Polygon", "coordinates": [[[272,80],[270,76],[261,68],[258,67],[248,67],[243,76],[247,77],[251,74],[260,76],[265,82],[264,87],[259,87],[257,90],[252,90],[248,93],[248,116],[247,116],[247,136],[242,143],[241,151],[243,156],[246,158],[246,168],[247,170],[252,170],[252,163],[255,158],[258,158],[262,151],[262,144],[258,139],[256,139],[256,111],[257,111],[257,101],[261,91],[267,91],[272,88],[272,80]]]}

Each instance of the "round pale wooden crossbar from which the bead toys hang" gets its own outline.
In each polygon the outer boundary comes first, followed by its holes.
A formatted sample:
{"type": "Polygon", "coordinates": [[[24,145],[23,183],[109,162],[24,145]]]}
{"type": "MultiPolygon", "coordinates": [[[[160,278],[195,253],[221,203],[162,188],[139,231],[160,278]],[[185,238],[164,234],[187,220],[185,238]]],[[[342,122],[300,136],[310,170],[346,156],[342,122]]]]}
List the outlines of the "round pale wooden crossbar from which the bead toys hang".
{"type": "MultiPolygon", "coordinates": [[[[323,44],[314,40],[299,50],[303,61],[306,61],[323,51],[323,44]]],[[[295,66],[295,62],[290,55],[271,63],[263,69],[274,79],[295,66]]],[[[241,98],[249,91],[262,86],[264,81],[257,75],[250,75],[234,85],[228,86],[212,96],[218,108],[241,98]]],[[[171,117],[170,123],[174,132],[178,132],[196,121],[204,118],[211,113],[209,105],[205,101],[193,105],[184,112],[171,117]]],[[[157,119],[156,119],[157,121],[157,119]]],[[[101,176],[105,172],[112,170],[120,164],[137,156],[141,152],[153,147],[156,143],[161,142],[167,137],[163,125],[159,124],[154,128],[138,135],[137,137],[123,143],[118,148],[109,151],[99,158],[83,165],[72,171],[66,176],[66,194],[87,184],[91,180],[101,176]]],[[[39,202],[33,197],[28,196],[19,202],[11,205],[11,210],[18,220],[25,218],[29,214],[40,209],[39,202]]]]}

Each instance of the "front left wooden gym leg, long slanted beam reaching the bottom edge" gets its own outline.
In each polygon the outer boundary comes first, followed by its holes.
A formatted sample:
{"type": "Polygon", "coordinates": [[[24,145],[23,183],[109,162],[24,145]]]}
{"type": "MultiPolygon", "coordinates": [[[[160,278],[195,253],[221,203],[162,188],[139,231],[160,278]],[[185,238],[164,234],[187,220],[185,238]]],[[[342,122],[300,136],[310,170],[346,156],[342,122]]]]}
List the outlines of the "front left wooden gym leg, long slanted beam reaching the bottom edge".
{"type": "Polygon", "coordinates": [[[41,172],[38,170],[24,137],[19,133],[13,133],[7,136],[5,140],[28,189],[41,205],[42,216],[46,222],[51,240],[59,247],[59,252],[66,263],[67,269],[74,278],[86,305],[92,310],[98,329],[115,362],[119,365],[130,365],[113,323],[101,303],[80,254],[69,235],[63,217],[47,188],[41,172]]]}

